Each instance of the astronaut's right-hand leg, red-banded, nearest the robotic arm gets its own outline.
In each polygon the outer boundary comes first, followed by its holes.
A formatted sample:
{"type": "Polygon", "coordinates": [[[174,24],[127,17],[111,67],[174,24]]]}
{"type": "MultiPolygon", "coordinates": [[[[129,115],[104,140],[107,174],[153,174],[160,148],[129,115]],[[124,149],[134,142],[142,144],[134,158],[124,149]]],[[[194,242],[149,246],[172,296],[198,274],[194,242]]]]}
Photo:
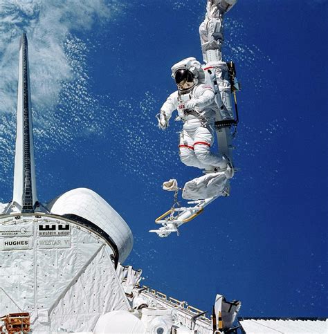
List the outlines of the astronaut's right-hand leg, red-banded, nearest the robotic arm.
{"type": "Polygon", "coordinates": [[[210,151],[210,147],[214,142],[214,133],[211,127],[199,127],[195,131],[194,136],[194,154],[203,165],[211,165],[219,167],[226,173],[227,178],[233,176],[233,167],[228,159],[210,151]]]}

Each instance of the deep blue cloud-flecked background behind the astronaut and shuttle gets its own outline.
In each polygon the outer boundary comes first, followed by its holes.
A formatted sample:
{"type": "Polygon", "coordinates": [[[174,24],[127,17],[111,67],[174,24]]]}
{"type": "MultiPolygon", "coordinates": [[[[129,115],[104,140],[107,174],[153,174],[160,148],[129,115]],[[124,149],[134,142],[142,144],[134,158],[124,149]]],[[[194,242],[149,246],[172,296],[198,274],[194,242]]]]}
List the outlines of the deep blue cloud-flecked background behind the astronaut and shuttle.
{"type": "Polygon", "coordinates": [[[228,13],[224,55],[243,87],[231,196],[180,236],[147,232],[171,205],[163,181],[199,175],[179,161],[181,124],[163,132],[154,115],[175,90],[172,64],[201,59],[205,2],[1,1],[0,197],[11,199],[24,29],[42,201],[98,192],[134,232],[126,264],[192,306],[210,310],[221,293],[244,316],[327,316],[327,1],[239,1],[228,13]]]}

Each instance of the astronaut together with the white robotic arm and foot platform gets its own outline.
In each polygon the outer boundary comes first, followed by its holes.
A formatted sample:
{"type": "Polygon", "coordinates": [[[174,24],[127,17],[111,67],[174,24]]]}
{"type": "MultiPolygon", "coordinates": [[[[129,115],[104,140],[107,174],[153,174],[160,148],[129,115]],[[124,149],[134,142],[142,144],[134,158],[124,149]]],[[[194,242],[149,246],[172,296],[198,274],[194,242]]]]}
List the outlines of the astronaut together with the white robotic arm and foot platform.
{"type": "Polygon", "coordinates": [[[230,195],[230,178],[235,174],[232,139],[237,130],[238,109],[235,64],[224,62],[221,55],[224,43],[224,16],[237,0],[208,0],[206,17],[199,27],[203,62],[194,57],[183,59],[172,66],[172,77],[178,90],[172,93],[158,118],[158,127],[166,129],[172,112],[176,109],[176,120],[183,121],[180,133],[179,154],[181,162],[190,167],[203,169],[203,176],[188,181],[181,188],[177,180],[163,183],[163,189],[174,192],[174,203],[170,210],[155,220],[162,225],[150,230],[158,236],[179,234],[179,227],[203,212],[206,205],[219,196],[230,195]],[[234,102],[232,102],[234,101],[234,102]],[[217,154],[211,146],[217,137],[217,154]],[[189,206],[178,201],[179,191],[189,206]]]}

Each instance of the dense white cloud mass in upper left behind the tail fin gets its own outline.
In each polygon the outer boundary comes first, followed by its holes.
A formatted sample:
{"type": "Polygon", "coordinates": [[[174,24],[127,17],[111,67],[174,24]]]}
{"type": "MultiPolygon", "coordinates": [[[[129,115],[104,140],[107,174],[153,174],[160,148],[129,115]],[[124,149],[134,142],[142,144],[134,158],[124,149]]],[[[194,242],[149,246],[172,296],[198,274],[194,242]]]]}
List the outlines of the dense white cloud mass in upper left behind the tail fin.
{"type": "Polygon", "coordinates": [[[62,83],[75,75],[65,50],[69,33],[111,19],[121,7],[115,1],[107,6],[103,0],[0,1],[0,112],[15,109],[23,31],[29,41],[33,106],[49,108],[57,102],[62,83]]]}

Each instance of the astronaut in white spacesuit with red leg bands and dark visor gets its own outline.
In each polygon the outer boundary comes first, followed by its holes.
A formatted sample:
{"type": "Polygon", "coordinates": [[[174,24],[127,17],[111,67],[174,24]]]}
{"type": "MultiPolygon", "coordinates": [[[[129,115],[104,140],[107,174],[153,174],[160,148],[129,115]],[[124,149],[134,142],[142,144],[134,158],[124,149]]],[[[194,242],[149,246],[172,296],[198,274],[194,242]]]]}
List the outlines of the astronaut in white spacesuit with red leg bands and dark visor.
{"type": "Polygon", "coordinates": [[[171,69],[178,91],[172,93],[161,107],[158,127],[166,129],[172,112],[177,109],[179,120],[183,121],[179,144],[182,163],[206,172],[227,169],[228,158],[210,151],[214,142],[217,104],[211,86],[202,83],[205,76],[201,64],[190,57],[171,69]]]}

